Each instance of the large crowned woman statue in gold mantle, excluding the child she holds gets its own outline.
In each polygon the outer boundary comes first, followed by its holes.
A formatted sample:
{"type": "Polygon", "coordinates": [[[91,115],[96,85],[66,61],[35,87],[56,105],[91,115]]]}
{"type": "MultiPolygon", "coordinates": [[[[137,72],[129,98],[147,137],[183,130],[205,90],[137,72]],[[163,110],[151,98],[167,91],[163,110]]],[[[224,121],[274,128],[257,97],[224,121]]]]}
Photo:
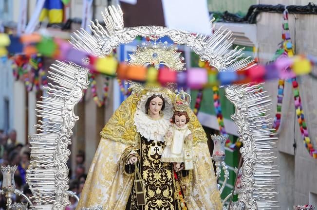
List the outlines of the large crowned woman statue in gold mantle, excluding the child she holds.
{"type": "MultiPolygon", "coordinates": [[[[180,53],[158,44],[139,47],[129,62],[184,69],[180,53]]],[[[187,108],[194,167],[186,171],[160,161],[175,93],[136,83],[131,88],[131,96],[101,131],[77,209],[221,210],[206,134],[195,114],[187,108]]]]}

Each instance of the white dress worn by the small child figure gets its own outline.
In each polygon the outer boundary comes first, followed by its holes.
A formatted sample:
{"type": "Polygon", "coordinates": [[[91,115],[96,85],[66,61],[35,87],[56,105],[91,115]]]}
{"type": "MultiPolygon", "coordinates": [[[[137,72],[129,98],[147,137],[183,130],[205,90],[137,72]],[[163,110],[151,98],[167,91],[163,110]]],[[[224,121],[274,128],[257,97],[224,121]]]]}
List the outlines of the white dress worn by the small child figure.
{"type": "Polygon", "coordinates": [[[166,146],[163,150],[161,161],[184,162],[185,139],[191,134],[187,124],[183,127],[177,127],[176,124],[173,124],[168,128],[168,132],[165,135],[166,146]],[[172,134],[169,138],[167,137],[168,132],[172,134]]]}

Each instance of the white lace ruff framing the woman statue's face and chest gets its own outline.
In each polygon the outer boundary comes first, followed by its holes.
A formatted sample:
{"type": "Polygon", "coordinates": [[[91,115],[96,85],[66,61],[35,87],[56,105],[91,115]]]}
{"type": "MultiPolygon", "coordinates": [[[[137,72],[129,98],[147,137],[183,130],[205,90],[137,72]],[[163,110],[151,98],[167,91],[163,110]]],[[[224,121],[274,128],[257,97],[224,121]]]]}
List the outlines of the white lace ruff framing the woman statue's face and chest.
{"type": "Polygon", "coordinates": [[[134,125],[136,131],[147,140],[157,140],[164,142],[164,135],[170,126],[170,118],[172,117],[172,101],[164,93],[160,93],[165,99],[164,116],[160,119],[153,120],[145,113],[145,103],[149,97],[158,93],[147,93],[143,95],[138,102],[137,109],[134,113],[134,125]]]}

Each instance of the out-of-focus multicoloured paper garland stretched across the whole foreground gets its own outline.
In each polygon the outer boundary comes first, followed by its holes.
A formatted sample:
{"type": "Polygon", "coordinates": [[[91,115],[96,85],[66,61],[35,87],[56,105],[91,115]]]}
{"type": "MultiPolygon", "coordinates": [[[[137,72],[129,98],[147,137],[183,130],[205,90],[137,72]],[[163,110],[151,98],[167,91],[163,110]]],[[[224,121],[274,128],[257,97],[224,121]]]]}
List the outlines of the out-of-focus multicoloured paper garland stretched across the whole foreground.
{"type": "Polygon", "coordinates": [[[316,65],[317,62],[315,58],[311,59],[312,57],[309,56],[297,55],[292,59],[278,59],[276,62],[265,66],[251,63],[247,67],[233,72],[214,73],[202,68],[192,68],[187,71],[176,72],[168,68],[161,68],[157,73],[157,70],[153,68],[146,69],[145,67],[131,66],[126,63],[119,64],[113,56],[100,58],[76,50],[68,42],[58,38],[39,34],[21,35],[20,37],[0,34],[0,56],[5,55],[7,51],[9,53],[21,53],[16,52],[17,49],[20,49],[26,55],[40,53],[44,56],[74,62],[78,65],[83,65],[82,60],[89,58],[89,64],[86,67],[92,72],[99,72],[112,77],[117,75],[119,79],[160,83],[163,86],[173,82],[177,83],[180,87],[192,89],[249,82],[259,83],[278,78],[292,78],[294,75],[310,73],[312,65],[316,65]],[[16,46],[13,47],[12,45],[16,46]],[[283,71],[286,67],[290,67],[291,71],[283,71]],[[153,73],[154,71],[156,73],[153,73]]]}

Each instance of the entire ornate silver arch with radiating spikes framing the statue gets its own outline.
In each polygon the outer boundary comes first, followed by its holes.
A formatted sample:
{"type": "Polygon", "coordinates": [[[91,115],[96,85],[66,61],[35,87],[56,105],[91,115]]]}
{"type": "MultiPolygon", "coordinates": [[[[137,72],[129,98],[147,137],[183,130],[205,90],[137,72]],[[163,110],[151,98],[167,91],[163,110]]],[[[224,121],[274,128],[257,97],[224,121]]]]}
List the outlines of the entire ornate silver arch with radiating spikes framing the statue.
{"type": "MultiPolygon", "coordinates": [[[[120,44],[133,41],[138,35],[152,40],[169,36],[176,44],[190,47],[200,55],[201,60],[208,61],[219,71],[238,70],[250,62],[247,58],[241,59],[243,49],[229,50],[234,40],[231,38],[232,32],[227,29],[219,29],[213,35],[205,36],[159,26],[124,28],[122,11],[120,7],[114,6],[106,8],[103,17],[106,28],[97,21],[91,25],[93,35],[84,30],[75,33],[71,43],[76,49],[105,56],[120,44]]],[[[35,203],[31,208],[38,210],[62,210],[70,204],[66,165],[70,151],[67,146],[71,143],[72,129],[78,120],[74,113],[75,105],[83,96],[82,90],[89,84],[87,68],[57,61],[50,69],[49,78],[54,84],[49,83],[45,87],[48,96],[37,102],[37,116],[41,117],[42,121],[38,121],[36,125],[39,134],[30,137],[31,163],[26,175],[35,203]]],[[[268,133],[256,129],[265,124],[267,118],[259,117],[258,111],[264,110],[266,105],[263,105],[263,101],[259,102],[261,97],[254,98],[255,89],[257,88],[248,86],[226,88],[228,99],[236,107],[233,119],[239,127],[244,144],[241,148],[244,158],[243,190],[239,194],[239,202],[244,204],[247,210],[271,209],[275,204],[266,203],[272,194],[272,190],[268,188],[271,181],[267,177],[272,175],[270,170],[273,166],[267,164],[273,159],[270,151],[274,143],[262,141],[269,138],[268,133]],[[259,105],[262,108],[258,108],[259,105]],[[266,150],[269,153],[264,153],[266,150]]]]}

